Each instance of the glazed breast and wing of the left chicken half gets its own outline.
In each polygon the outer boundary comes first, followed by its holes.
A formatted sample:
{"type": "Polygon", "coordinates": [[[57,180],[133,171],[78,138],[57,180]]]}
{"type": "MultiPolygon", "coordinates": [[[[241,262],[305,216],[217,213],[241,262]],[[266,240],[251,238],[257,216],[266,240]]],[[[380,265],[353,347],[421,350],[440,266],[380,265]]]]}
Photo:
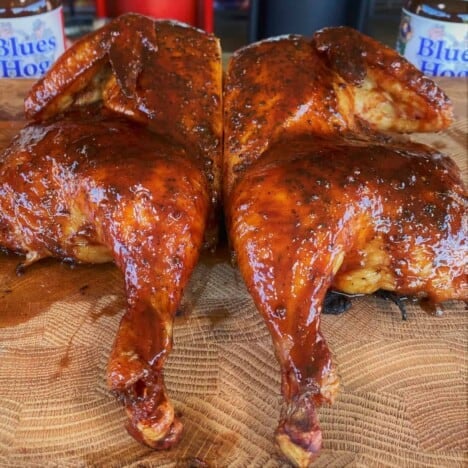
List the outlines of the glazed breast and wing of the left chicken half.
{"type": "MultiPolygon", "coordinates": [[[[219,40],[172,21],[126,14],[77,41],[25,99],[45,121],[99,103],[203,161],[216,206],[221,188],[222,68],[219,40]]],[[[214,213],[211,222],[214,220],[214,213]]],[[[214,230],[216,231],[216,229],[214,230]]],[[[213,234],[212,231],[210,231],[213,234]]],[[[206,236],[210,242],[210,236],[206,236]]]]}

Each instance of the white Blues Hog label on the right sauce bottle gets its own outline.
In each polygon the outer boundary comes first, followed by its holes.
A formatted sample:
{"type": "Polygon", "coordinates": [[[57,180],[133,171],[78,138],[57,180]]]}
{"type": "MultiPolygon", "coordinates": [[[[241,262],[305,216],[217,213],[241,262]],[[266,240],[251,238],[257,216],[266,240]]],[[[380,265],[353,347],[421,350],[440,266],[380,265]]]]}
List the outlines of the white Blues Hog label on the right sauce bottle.
{"type": "Polygon", "coordinates": [[[438,21],[403,9],[397,50],[425,75],[468,76],[468,24],[438,21]]]}

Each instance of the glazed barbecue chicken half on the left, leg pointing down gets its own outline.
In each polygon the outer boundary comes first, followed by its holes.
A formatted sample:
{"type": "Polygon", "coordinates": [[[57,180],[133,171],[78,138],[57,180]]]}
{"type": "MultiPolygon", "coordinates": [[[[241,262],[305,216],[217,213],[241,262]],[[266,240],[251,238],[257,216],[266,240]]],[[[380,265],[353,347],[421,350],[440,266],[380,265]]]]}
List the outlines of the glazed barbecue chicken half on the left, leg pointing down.
{"type": "Polygon", "coordinates": [[[173,317],[209,242],[221,164],[218,40],[126,15],[69,49],[25,102],[0,159],[0,245],[26,255],[114,261],[127,311],[108,365],[129,432],[180,438],[163,366],[173,317]]]}

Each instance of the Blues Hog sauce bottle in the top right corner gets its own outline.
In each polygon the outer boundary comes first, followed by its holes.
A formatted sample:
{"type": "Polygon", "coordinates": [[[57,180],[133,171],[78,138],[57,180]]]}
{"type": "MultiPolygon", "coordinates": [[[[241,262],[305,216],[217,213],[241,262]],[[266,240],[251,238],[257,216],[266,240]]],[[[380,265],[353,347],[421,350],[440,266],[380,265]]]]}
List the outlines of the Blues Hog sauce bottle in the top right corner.
{"type": "Polygon", "coordinates": [[[398,52],[429,76],[468,76],[468,1],[406,0],[398,52]]]}

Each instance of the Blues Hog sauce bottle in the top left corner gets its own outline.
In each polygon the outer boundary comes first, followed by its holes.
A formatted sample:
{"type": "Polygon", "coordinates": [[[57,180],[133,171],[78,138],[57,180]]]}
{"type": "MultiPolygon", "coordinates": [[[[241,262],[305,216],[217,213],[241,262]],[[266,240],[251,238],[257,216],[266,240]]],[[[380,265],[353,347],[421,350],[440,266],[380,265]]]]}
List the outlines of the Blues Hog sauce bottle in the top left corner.
{"type": "Polygon", "coordinates": [[[0,78],[39,78],[64,43],[60,0],[0,0],[0,78]]]}

